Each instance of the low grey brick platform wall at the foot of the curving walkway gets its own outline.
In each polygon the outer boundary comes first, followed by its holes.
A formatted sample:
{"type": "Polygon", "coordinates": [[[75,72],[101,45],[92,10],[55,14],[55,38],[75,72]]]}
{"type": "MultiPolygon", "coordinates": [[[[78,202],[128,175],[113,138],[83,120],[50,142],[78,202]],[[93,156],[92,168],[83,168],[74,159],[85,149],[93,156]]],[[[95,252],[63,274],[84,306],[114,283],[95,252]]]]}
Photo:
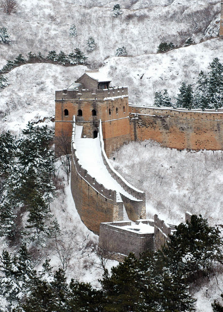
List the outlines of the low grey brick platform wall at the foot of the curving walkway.
{"type": "Polygon", "coordinates": [[[100,225],[99,246],[109,251],[119,252],[126,256],[134,252],[136,257],[146,250],[153,250],[153,233],[136,233],[116,226],[131,225],[130,222],[102,223],[100,225]]]}

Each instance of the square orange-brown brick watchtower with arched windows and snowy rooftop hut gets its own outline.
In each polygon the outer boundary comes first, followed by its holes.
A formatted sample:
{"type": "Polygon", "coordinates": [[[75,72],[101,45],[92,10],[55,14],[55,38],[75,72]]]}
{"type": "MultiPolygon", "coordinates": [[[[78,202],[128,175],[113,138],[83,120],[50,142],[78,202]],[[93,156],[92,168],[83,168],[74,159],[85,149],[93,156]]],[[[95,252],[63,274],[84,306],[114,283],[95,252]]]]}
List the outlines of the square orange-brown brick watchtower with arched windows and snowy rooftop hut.
{"type": "Polygon", "coordinates": [[[111,79],[99,70],[86,71],[68,89],[56,91],[55,152],[61,154],[61,138],[71,143],[72,120],[83,126],[83,137],[96,138],[99,120],[106,154],[130,141],[127,87],[110,87],[111,79]]]}

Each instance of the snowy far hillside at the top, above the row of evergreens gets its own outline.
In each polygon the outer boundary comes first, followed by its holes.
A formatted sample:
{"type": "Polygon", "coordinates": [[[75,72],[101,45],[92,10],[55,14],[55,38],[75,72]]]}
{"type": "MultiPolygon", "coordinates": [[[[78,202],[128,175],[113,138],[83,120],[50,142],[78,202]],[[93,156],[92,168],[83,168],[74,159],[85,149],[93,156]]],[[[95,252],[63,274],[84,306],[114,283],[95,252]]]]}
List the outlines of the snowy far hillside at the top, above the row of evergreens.
{"type": "Polygon", "coordinates": [[[188,37],[200,42],[209,24],[220,16],[218,0],[144,1],[122,0],[123,14],[112,16],[117,1],[22,0],[16,13],[0,10],[0,27],[7,27],[12,42],[0,46],[0,65],[19,53],[50,50],[71,52],[79,47],[86,51],[86,40],[94,37],[95,51],[87,53],[89,63],[97,67],[106,57],[114,56],[120,46],[129,55],[156,53],[162,41],[181,46],[188,37]],[[76,25],[77,37],[69,37],[76,25]]]}

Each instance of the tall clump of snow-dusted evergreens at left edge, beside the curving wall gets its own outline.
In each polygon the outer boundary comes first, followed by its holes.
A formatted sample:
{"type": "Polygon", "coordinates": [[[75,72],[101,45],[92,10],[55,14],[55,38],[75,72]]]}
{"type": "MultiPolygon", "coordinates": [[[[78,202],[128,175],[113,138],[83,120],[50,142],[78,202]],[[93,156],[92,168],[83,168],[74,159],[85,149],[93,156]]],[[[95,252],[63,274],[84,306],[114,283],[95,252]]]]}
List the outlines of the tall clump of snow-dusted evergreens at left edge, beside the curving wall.
{"type": "Polygon", "coordinates": [[[45,246],[53,228],[49,205],[55,195],[51,176],[54,154],[50,149],[53,133],[47,128],[28,123],[16,141],[10,133],[0,136],[0,234],[10,238],[18,232],[27,241],[45,246]],[[17,224],[22,211],[27,211],[25,228],[17,224]]]}

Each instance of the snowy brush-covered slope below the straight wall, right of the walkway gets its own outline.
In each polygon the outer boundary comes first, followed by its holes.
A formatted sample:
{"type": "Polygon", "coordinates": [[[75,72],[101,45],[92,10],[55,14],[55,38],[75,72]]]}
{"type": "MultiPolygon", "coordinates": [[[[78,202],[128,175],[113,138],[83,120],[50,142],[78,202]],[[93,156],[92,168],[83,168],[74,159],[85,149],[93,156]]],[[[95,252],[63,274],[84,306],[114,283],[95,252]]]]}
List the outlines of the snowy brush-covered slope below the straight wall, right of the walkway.
{"type": "Polygon", "coordinates": [[[156,142],[131,142],[110,162],[129,183],[145,191],[147,218],[161,212],[168,223],[178,224],[190,211],[212,225],[223,223],[222,151],[180,152],[156,142]]]}

